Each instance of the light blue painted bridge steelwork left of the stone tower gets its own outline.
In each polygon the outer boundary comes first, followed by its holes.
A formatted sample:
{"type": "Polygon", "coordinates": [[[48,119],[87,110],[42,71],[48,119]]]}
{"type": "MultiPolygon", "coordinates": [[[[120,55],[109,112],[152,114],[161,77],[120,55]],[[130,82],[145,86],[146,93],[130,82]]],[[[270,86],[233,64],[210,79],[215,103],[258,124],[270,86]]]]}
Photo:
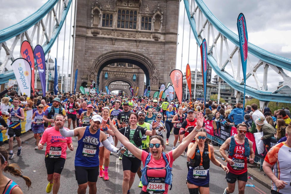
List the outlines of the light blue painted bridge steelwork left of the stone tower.
{"type": "MultiPolygon", "coordinates": [[[[5,28],[0,31],[0,42],[4,42],[6,40],[9,40],[11,38],[14,38],[18,34],[21,34],[28,30],[31,26],[39,22],[42,18],[45,17],[45,15],[48,14],[52,10],[52,8],[56,5],[58,0],[51,0],[47,1],[42,7],[40,7],[34,14],[28,16],[24,20],[20,21],[19,23],[10,26],[8,28],[5,28]]],[[[49,43],[45,42],[42,45],[43,51],[45,52],[45,55],[50,51],[51,47],[53,46],[54,42],[56,41],[58,34],[60,34],[61,29],[63,27],[63,24],[65,22],[65,19],[67,17],[67,14],[69,12],[69,8],[72,4],[72,0],[68,0],[67,7],[63,8],[62,14],[61,14],[61,20],[59,21],[59,25],[53,28],[52,31],[52,38],[49,43]]],[[[36,63],[35,63],[36,64],[36,63]]],[[[35,65],[37,66],[37,64],[35,65]]],[[[3,74],[0,74],[0,84],[6,83],[9,81],[9,79],[15,79],[15,75],[13,73],[13,70],[7,71],[3,74]]]]}

